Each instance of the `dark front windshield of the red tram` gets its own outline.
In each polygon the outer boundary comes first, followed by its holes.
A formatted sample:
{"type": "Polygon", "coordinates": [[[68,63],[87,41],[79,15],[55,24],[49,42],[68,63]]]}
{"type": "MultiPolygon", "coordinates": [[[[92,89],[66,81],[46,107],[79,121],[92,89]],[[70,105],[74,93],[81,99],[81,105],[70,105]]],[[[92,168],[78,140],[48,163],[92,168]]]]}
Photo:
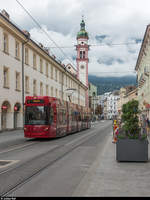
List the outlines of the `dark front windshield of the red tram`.
{"type": "Polygon", "coordinates": [[[48,125],[47,106],[26,106],[25,124],[26,125],[48,125]]]}

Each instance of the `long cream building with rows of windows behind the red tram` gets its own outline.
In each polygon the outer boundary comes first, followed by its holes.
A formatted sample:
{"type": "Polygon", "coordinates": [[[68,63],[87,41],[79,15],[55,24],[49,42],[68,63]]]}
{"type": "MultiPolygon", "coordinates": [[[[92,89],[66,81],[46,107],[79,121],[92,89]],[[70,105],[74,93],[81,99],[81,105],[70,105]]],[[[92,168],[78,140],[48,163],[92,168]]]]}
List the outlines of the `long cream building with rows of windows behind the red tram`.
{"type": "Polygon", "coordinates": [[[22,128],[26,96],[53,96],[85,106],[87,87],[51,56],[27,31],[0,13],[0,131],[22,128]],[[23,80],[24,79],[24,80],[23,80]]]}

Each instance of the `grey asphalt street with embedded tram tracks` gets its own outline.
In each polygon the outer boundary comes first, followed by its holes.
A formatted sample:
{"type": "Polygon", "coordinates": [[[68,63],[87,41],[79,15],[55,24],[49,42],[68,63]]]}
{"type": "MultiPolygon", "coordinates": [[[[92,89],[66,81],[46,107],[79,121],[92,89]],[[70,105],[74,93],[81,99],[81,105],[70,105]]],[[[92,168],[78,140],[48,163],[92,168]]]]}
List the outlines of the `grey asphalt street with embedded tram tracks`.
{"type": "Polygon", "coordinates": [[[112,133],[112,121],[57,139],[0,133],[0,196],[72,196],[112,133]]]}

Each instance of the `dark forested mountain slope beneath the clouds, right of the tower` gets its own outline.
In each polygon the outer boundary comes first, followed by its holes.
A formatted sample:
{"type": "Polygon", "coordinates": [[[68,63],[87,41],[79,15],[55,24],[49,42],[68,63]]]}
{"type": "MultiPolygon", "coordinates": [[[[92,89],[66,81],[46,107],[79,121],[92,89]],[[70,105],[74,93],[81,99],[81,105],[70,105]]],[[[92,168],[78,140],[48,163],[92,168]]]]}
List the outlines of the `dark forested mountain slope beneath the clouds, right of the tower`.
{"type": "Polygon", "coordinates": [[[97,86],[98,95],[119,90],[127,85],[136,85],[136,76],[98,77],[89,75],[88,79],[89,82],[97,86]]]}

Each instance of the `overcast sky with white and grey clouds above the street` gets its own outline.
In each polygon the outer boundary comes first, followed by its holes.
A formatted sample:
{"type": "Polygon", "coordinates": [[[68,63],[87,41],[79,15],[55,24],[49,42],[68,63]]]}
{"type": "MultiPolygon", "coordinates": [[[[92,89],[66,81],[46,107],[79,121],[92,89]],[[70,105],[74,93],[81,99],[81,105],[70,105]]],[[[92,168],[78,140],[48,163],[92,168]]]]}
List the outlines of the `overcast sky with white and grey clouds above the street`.
{"type": "MultiPolygon", "coordinates": [[[[150,23],[150,0],[18,0],[38,21],[50,38],[63,48],[51,48],[64,63],[76,66],[76,35],[82,15],[89,33],[89,74],[123,76],[134,69],[141,41],[150,23]],[[132,45],[114,45],[122,43],[132,45]],[[96,45],[96,46],[92,46],[96,45]],[[101,46],[100,46],[101,45],[101,46]],[[69,60],[68,60],[69,58],[69,60]]],[[[16,0],[1,1],[10,18],[31,37],[47,47],[55,47],[16,0]]]]}

